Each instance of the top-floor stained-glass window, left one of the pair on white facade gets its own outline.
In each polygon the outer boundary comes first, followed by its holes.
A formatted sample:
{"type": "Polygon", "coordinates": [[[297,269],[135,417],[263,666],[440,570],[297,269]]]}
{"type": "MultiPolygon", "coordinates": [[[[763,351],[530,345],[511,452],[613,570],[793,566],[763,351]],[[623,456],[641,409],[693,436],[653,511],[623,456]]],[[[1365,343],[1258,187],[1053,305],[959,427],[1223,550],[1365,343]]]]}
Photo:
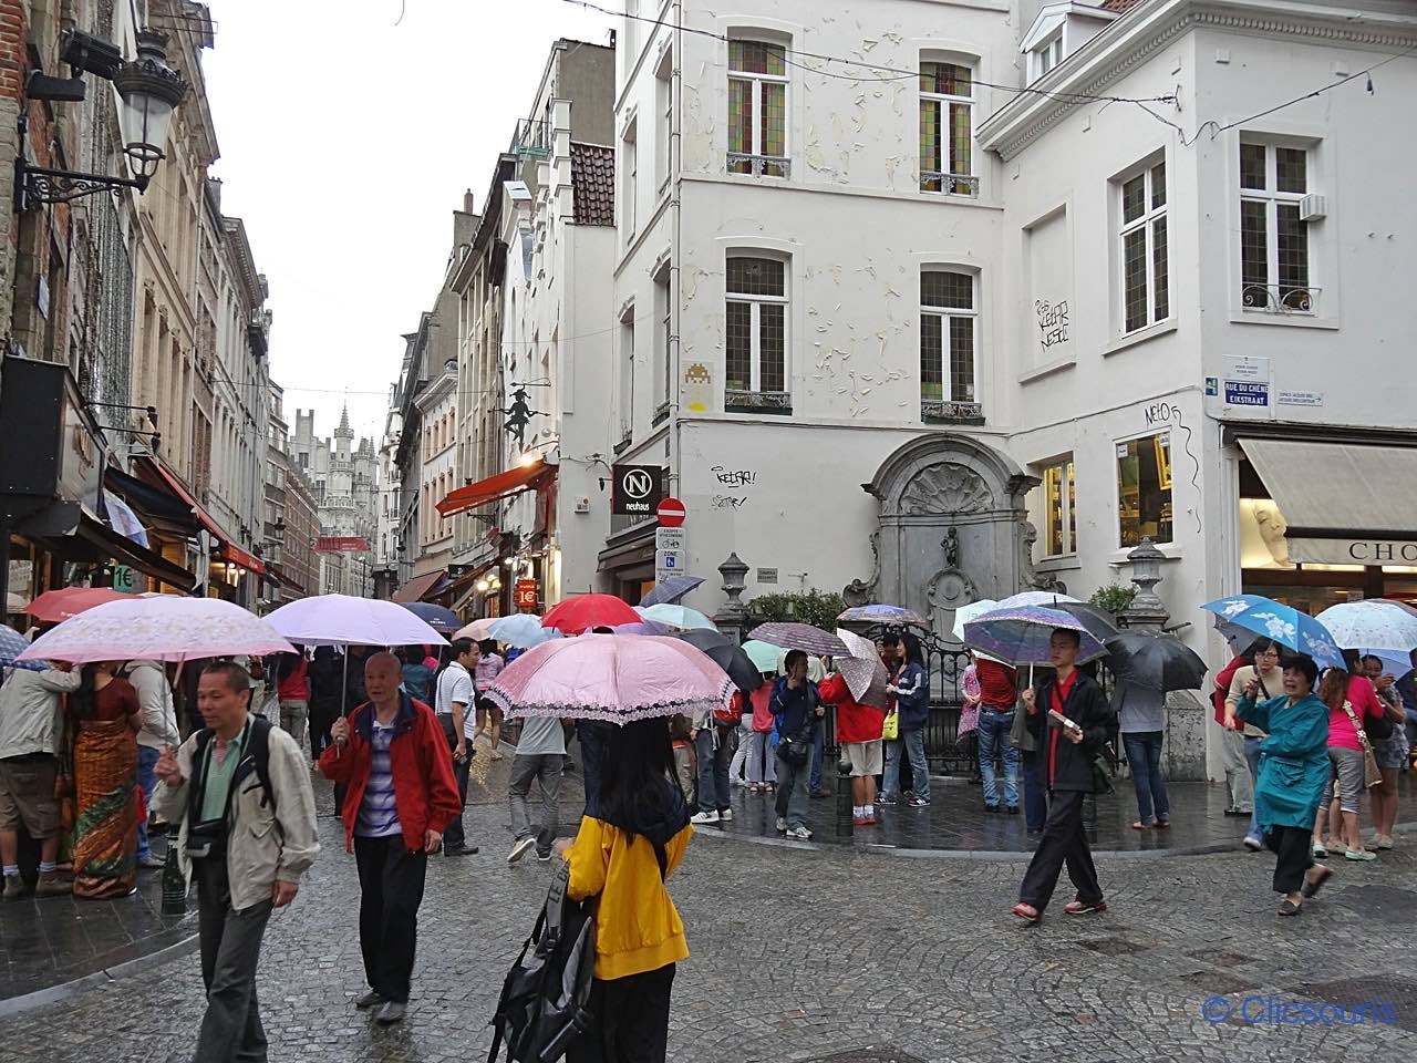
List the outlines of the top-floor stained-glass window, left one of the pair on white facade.
{"type": "Polygon", "coordinates": [[[728,173],[786,177],[786,48],[728,41],[728,173]]]}

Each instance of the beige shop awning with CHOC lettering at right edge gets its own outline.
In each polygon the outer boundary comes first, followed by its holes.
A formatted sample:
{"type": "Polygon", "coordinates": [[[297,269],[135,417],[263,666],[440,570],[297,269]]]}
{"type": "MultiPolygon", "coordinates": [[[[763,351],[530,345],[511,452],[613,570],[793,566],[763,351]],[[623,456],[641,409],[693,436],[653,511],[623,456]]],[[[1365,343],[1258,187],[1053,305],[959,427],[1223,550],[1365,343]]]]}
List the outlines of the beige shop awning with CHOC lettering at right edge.
{"type": "Polygon", "coordinates": [[[1284,514],[1289,560],[1417,566],[1417,446],[1241,438],[1284,514]]]}

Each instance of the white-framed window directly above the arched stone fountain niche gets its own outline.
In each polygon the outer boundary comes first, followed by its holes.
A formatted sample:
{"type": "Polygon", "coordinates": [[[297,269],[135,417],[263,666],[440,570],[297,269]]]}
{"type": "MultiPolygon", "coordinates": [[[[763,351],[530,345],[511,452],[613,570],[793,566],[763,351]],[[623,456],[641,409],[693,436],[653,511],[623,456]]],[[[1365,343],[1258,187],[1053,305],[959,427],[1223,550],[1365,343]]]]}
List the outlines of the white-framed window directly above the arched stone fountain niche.
{"type": "Polygon", "coordinates": [[[920,274],[920,400],[925,417],[978,417],[975,395],[975,279],[971,274],[920,274]],[[958,407],[958,404],[968,404],[958,407]]]}

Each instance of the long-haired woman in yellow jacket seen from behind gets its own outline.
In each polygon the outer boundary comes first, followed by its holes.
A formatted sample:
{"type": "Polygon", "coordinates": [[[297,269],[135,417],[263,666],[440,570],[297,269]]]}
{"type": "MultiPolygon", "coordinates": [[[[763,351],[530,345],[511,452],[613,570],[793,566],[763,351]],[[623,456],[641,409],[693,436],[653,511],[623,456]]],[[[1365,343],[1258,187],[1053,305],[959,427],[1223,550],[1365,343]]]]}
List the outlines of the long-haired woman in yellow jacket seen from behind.
{"type": "Polygon", "coordinates": [[[572,900],[595,910],[595,1025],[568,1063],[663,1063],[674,964],[689,957],[665,880],[684,857],[689,806],[674,777],[667,720],[616,727],[601,764],[598,816],[565,850],[572,900]]]}

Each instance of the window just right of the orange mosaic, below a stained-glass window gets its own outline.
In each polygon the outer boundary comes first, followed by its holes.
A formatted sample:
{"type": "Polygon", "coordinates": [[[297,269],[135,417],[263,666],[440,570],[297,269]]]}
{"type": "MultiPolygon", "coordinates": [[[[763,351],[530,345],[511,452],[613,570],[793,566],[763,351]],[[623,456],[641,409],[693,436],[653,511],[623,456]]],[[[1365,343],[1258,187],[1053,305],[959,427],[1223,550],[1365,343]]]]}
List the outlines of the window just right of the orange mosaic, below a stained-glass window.
{"type": "Polygon", "coordinates": [[[791,410],[786,262],[735,255],[727,276],[724,405],[791,410]]]}

